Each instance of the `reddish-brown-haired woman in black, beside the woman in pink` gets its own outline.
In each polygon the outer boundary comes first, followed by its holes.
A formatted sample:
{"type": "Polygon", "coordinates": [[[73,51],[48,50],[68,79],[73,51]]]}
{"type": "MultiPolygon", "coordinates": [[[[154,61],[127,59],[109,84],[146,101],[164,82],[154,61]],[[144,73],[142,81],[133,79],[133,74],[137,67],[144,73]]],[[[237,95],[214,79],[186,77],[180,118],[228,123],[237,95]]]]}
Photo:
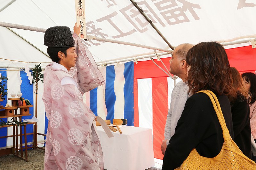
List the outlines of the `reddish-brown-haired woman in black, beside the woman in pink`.
{"type": "Polygon", "coordinates": [[[250,109],[247,102],[242,77],[235,67],[231,67],[231,79],[235,92],[228,95],[231,105],[234,141],[248,158],[252,158],[250,109]]]}

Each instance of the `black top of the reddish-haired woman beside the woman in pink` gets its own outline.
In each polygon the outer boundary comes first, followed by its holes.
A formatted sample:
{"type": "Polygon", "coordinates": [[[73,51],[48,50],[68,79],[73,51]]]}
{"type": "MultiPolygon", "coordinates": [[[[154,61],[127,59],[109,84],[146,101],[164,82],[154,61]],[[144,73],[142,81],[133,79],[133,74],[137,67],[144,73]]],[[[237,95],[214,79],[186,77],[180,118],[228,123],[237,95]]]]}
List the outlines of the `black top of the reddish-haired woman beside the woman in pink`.
{"type": "Polygon", "coordinates": [[[247,99],[241,94],[231,103],[235,142],[248,158],[252,158],[250,108],[247,99]]]}

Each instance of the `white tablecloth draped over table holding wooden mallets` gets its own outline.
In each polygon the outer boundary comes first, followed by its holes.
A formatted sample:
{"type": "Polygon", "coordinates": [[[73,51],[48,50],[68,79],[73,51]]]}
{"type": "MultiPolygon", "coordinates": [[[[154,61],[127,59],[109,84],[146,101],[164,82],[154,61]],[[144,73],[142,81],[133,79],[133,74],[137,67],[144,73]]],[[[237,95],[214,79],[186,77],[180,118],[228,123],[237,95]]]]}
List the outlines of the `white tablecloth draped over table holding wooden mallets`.
{"type": "Polygon", "coordinates": [[[145,170],[155,165],[152,129],[120,126],[108,138],[101,126],[97,126],[103,151],[104,168],[107,170],[145,170]]]}

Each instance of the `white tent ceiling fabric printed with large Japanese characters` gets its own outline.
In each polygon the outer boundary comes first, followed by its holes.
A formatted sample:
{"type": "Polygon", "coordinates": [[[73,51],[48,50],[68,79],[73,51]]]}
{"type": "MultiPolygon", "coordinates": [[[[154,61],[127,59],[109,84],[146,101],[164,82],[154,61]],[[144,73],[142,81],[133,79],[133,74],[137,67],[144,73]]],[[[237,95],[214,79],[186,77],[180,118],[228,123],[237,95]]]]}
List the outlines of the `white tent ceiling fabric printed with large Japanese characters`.
{"type": "MultiPolygon", "coordinates": [[[[0,9],[9,2],[11,0],[0,0],[0,9]]],[[[136,2],[172,46],[256,34],[254,18],[256,2],[252,0],[136,0],[136,2]]],[[[87,34],[170,49],[130,0],[85,0],[85,8],[87,34]]],[[[76,22],[75,16],[73,0],[16,0],[0,12],[0,21],[44,29],[51,26],[69,26],[72,31],[76,22]]],[[[5,40],[10,39],[8,36],[10,30],[4,27],[0,29],[1,40],[4,37],[1,46],[5,46],[5,50],[12,51],[13,45],[18,44],[7,45],[5,40]]],[[[47,47],[43,45],[44,33],[11,29],[46,53],[47,47]]],[[[154,52],[151,49],[93,40],[86,41],[86,46],[96,62],[154,52]]],[[[46,57],[41,57],[43,54],[39,51],[34,52],[36,49],[32,46],[20,46],[17,48],[20,54],[4,52],[2,48],[1,58],[29,61],[28,56],[32,55],[36,56],[33,60],[49,61],[46,57]]]]}

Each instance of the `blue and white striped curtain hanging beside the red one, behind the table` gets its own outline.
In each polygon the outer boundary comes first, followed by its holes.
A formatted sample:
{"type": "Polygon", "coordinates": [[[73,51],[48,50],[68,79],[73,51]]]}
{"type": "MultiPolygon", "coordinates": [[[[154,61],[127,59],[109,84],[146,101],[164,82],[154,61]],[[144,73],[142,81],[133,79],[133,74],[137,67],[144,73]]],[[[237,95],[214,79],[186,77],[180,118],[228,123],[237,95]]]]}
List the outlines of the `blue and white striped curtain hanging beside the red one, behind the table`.
{"type": "Polygon", "coordinates": [[[96,116],[103,119],[127,119],[133,126],[133,61],[99,67],[106,83],[91,90],[86,103],[96,116]]]}

